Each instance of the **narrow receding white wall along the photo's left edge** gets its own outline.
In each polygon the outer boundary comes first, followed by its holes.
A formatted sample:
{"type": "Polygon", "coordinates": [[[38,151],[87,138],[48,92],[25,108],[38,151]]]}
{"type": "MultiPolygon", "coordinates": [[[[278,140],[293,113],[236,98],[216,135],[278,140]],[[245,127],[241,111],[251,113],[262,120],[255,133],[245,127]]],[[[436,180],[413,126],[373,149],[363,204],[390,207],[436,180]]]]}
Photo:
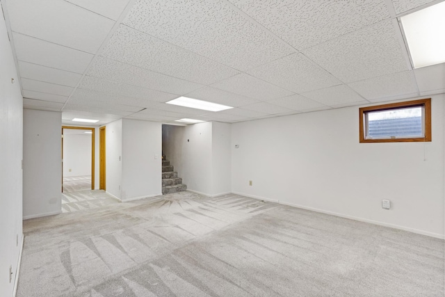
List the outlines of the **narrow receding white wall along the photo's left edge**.
{"type": "Polygon", "coordinates": [[[23,99],[6,25],[0,20],[0,296],[13,296],[22,246],[23,99]],[[15,79],[15,83],[11,83],[15,79]],[[18,239],[18,242],[17,242],[18,239]],[[13,268],[9,282],[9,267],[13,268]]]}

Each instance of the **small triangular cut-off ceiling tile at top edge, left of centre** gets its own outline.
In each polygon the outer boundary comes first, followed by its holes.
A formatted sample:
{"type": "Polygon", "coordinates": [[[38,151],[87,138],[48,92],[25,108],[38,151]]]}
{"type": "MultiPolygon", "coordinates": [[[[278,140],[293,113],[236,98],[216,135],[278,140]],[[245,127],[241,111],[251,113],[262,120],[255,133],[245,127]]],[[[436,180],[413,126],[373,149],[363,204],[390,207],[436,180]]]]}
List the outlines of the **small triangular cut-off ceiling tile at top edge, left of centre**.
{"type": "Polygon", "coordinates": [[[129,0],[65,0],[67,2],[73,3],[76,6],[81,6],[90,11],[108,17],[110,19],[117,20],[129,0]]]}

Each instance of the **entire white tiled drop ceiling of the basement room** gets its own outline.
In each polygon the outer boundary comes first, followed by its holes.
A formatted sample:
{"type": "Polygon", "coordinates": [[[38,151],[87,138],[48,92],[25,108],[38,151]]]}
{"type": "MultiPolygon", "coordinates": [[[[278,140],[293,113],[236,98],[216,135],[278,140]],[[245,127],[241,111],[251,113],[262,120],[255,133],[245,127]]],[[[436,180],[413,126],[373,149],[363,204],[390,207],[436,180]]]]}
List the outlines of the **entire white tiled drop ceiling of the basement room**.
{"type": "Polygon", "coordinates": [[[24,107],[241,122],[445,93],[413,70],[398,17],[428,0],[1,0],[24,107]],[[234,109],[165,102],[186,96],[234,109]]]}

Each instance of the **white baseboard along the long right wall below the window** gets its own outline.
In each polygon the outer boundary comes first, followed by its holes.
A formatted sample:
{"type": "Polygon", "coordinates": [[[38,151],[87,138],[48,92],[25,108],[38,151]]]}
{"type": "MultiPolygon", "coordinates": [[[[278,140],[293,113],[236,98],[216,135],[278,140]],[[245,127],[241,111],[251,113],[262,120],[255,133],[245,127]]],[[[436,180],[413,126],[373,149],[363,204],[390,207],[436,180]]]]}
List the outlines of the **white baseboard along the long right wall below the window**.
{"type": "Polygon", "coordinates": [[[401,225],[385,223],[385,222],[381,222],[379,220],[369,220],[368,218],[359,218],[357,216],[349,216],[349,215],[346,215],[346,214],[339,214],[339,213],[334,212],[334,211],[326,211],[326,210],[317,209],[317,208],[314,208],[314,207],[305,207],[305,206],[300,205],[300,204],[293,204],[293,203],[289,203],[289,202],[283,202],[283,201],[280,201],[280,200],[274,200],[274,199],[269,199],[269,198],[265,198],[265,197],[259,197],[259,196],[256,196],[256,195],[248,195],[248,194],[238,193],[238,192],[232,192],[232,193],[234,193],[236,195],[242,195],[242,196],[245,196],[245,197],[258,199],[258,200],[264,200],[264,201],[269,201],[269,202],[275,202],[275,203],[278,203],[278,204],[288,205],[290,207],[297,207],[297,208],[300,208],[300,209],[307,209],[307,210],[310,210],[310,211],[316,211],[316,212],[319,212],[321,214],[330,214],[332,216],[339,216],[341,218],[349,218],[350,220],[358,220],[358,221],[364,222],[364,223],[371,223],[371,224],[379,225],[379,226],[383,226],[383,227],[390,227],[390,228],[403,230],[403,231],[408,231],[408,232],[412,232],[412,233],[416,233],[416,234],[422,234],[422,235],[426,235],[426,236],[431,236],[431,237],[435,237],[437,239],[445,239],[444,234],[428,232],[428,231],[419,230],[419,229],[415,229],[415,228],[411,228],[411,227],[405,227],[405,226],[401,226],[401,225]]]}

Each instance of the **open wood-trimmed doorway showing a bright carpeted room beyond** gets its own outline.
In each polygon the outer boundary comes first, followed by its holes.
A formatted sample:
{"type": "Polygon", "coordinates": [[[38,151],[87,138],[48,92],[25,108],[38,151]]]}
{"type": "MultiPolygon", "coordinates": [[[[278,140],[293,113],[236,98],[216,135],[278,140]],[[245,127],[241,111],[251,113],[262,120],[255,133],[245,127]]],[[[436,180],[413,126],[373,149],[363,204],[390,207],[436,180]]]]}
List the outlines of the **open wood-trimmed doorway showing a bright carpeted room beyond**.
{"type": "Polygon", "coordinates": [[[62,192],[95,189],[95,128],[62,127],[62,192]]]}

